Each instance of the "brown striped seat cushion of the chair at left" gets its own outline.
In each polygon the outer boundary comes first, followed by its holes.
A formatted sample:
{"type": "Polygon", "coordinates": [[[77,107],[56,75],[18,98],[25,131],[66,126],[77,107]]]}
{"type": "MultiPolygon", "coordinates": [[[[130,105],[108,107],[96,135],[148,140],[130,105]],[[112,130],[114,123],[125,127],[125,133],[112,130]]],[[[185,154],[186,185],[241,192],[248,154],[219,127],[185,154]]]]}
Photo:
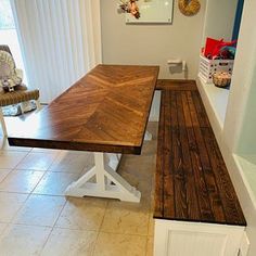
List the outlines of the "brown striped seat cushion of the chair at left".
{"type": "Polygon", "coordinates": [[[26,90],[26,87],[20,86],[20,89],[13,92],[0,91],[0,106],[13,105],[24,101],[38,100],[39,90],[26,90]]]}

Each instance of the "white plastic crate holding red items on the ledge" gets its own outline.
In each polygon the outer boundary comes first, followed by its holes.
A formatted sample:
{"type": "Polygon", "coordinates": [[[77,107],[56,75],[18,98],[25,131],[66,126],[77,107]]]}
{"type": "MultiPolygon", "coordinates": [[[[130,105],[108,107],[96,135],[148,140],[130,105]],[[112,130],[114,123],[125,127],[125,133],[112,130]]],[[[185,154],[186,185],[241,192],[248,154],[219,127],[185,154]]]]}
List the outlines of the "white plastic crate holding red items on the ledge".
{"type": "Polygon", "coordinates": [[[200,72],[199,77],[204,82],[213,82],[213,74],[216,72],[229,72],[232,74],[233,60],[208,60],[200,55],[200,72]]]}

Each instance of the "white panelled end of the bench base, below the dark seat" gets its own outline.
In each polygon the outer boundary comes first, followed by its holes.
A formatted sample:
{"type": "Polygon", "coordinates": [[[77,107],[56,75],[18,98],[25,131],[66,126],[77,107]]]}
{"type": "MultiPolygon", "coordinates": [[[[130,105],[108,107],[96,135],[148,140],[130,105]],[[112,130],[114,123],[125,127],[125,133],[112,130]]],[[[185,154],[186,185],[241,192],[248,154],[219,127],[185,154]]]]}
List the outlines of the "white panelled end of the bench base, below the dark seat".
{"type": "Polygon", "coordinates": [[[155,219],[154,256],[236,256],[245,227],[155,219]]]}

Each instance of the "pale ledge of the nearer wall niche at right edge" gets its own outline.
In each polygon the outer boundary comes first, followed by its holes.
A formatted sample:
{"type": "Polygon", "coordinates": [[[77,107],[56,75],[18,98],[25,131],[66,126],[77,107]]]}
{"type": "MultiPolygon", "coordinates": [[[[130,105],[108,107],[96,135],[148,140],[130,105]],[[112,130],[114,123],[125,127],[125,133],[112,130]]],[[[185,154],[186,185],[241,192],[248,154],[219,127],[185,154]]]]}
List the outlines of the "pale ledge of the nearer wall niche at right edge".
{"type": "Polygon", "coordinates": [[[244,183],[256,208],[256,154],[236,155],[233,154],[236,165],[241,170],[244,183]]]}

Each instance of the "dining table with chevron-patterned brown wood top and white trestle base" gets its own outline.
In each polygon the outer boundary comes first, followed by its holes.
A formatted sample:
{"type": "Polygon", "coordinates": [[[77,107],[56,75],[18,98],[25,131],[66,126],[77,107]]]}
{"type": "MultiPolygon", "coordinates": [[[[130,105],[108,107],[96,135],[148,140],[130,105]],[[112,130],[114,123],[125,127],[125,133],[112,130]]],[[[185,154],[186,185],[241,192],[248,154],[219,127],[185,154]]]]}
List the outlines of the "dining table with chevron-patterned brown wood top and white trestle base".
{"type": "Polygon", "coordinates": [[[94,167],[66,189],[71,196],[140,202],[116,172],[121,154],[140,154],[158,66],[98,65],[41,111],[20,120],[9,144],[94,152],[94,167]]]}

